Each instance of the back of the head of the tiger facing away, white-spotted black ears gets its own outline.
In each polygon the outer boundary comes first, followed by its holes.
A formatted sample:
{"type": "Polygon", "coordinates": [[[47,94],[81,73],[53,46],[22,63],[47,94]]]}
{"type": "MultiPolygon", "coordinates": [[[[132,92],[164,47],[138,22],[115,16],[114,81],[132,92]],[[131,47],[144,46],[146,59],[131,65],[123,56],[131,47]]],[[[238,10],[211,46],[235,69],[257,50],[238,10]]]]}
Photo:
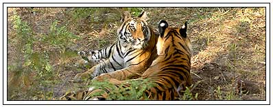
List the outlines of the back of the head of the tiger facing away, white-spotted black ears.
{"type": "MultiPolygon", "coordinates": [[[[187,36],[187,22],[181,28],[169,27],[165,20],[161,20],[158,25],[159,33],[158,42],[156,44],[157,54],[165,55],[169,50],[169,45],[172,47],[178,46],[184,48],[186,52],[191,54],[191,42],[187,36]]],[[[169,50],[171,51],[171,50],[169,50]]]]}

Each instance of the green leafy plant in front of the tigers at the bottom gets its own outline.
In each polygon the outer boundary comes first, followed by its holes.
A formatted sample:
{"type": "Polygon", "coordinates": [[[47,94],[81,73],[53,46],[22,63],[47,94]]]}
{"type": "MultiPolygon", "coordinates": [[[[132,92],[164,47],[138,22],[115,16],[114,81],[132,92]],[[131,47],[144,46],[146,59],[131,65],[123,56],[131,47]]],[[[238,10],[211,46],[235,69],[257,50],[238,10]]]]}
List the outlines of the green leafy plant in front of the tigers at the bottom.
{"type": "MultiPolygon", "coordinates": [[[[110,90],[107,93],[106,100],[148,100],[145,90],[154,87],[154,84],[145,79],[139,81],[128,80],[117,87],[114,83],[105,80],[104,82],[93,81],[89,86],[94,87],[94,89],[110,90]]],[[[91,96],[101,95],[102,93],[105,92],[93,93],[91,96]]]]}

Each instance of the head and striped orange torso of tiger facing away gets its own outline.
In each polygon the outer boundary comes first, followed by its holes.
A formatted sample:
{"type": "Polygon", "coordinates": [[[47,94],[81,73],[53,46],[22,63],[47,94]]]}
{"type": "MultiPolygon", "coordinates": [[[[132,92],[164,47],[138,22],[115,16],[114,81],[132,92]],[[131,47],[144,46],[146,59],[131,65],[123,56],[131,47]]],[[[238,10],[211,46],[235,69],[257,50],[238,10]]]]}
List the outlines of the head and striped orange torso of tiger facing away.
{"type": "Polygon", "coordinates": [[[156,85],[150,89],[151,100],[174,100],[191,85],[191,42],[186,31],[187,23],[182,28],[173,28],[165,20],[160,22],[158,57],[142,75],[156,85]]]}

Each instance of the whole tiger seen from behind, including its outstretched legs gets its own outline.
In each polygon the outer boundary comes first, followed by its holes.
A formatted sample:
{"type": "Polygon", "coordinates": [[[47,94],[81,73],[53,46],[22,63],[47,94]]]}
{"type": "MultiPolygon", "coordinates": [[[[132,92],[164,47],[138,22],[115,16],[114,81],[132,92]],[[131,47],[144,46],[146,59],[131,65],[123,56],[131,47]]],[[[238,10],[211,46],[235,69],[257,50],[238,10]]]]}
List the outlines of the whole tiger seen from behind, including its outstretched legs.
{"type": "MultiPolygon", "coordinates": [[[[149,100],[177,100],[181,97],[179,92],[191,86],[191,42],[186,33],[187,22],[179,28],[169,27],[165,20],[161,20],[158,29],[161,34],[156,44],[158,57],[145,70],[141,78],[132,79],[132,81],[146,79],[154,83],[150,89],[144,91],[144,95],[149,100]]],[[[116,87],[121,85],[130,87],[128,80],[110,78],[109,82],[116,87]]],[[[91,87],[86,91],[64,95],[61,100],[107,100],[108,93],[111,91],[107,87],[104,89],[91,87]],[[93,96],[98,92],[102,94],[93,96]]],[[[143,100],[143,97],[139,100],[143,100]]]]}

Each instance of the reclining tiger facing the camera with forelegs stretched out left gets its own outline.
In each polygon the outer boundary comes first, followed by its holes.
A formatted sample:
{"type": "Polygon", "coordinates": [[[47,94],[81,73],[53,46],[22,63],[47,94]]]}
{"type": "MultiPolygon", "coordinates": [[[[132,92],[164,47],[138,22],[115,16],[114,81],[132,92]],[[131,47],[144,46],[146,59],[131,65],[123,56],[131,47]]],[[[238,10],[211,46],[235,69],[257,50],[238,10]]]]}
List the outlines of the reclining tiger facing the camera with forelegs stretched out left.
{"type": "Polygon", "coordinates": [[[92,79],[100,74],[104,77],[126,80],[131,74],[141,75],[156,58],[158,31],[147,24],[147,12],[132,18],[123,12],[123,23],[117,30],[115,44],[102,50],[92,51],[88,60],[105,59],[90,70],[74,77],[75,81],[92,79]]]}

